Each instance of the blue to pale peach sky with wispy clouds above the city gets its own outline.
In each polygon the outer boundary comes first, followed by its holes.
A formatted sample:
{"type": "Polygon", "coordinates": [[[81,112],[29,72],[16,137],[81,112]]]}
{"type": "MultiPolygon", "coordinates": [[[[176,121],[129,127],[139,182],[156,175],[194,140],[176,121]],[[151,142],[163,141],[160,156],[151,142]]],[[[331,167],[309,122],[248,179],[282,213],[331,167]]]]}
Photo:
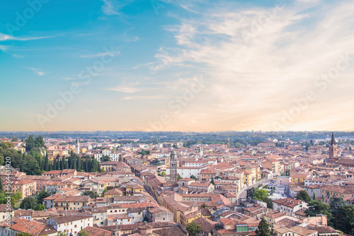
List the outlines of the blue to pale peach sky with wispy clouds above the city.
{"type": "Polygon", "coordinates": [[[353,131],[354,1],[0,8],[1,131],[353,131]]]}

